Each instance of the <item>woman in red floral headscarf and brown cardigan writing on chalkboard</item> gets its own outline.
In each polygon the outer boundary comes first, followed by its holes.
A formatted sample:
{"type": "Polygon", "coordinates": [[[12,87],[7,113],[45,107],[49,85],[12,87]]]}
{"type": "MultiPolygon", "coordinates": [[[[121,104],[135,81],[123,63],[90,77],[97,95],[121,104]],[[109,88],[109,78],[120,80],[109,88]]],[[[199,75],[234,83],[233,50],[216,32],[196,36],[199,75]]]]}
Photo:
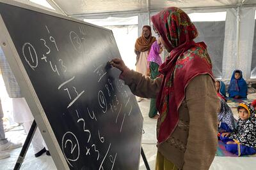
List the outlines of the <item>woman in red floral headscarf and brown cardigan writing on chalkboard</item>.
{"type": "Polygon", "coordinates": [[[217,146],[220,101],[214,87],[211,59],[204,42],[195,43],[195,25],[179,8],[167,8],[152,18],[159,41],[170,52],[154,80],[125,66],[120,78],[140,97],[156,98],[156,169],[209,169],[217,146]]]}

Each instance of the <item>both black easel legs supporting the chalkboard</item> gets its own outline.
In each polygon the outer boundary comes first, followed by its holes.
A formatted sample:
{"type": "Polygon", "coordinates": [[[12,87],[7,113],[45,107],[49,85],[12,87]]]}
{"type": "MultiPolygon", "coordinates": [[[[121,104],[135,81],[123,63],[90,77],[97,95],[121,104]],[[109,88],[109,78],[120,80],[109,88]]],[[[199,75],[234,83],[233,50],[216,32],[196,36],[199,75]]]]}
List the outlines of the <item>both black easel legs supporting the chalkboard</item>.
{"type": "MultiPolygon", "coordinates": [[[[19,155],[19,157],[17,159],[17,162],[16,162],[15,167],[13,168],[13,170],[19,170],[20,169],[21,164],[23,163],[24,158],[26,156],[26,153],[28,152],[28,148],[29,148],[29,145],[31,143],[31,140],[32,140],[32,138],[33,138],[33,136],[35,134],[36,127],[37,127],[36,121],[34,120],[32,125],[31,125],[31,127],[30,127],[30,129],[29,129],[28,136],[27,136],[27,138],[26,138],[26,140],[24,142],[24,145],[22,146],[22,149],[20,151],[20,155],[19,155]]],[[[144,164],[145,164],[147,170],[150,170],[147,158],[145,156],[145,153],[144,153],[142,147],[141,147],[141,157],[142,157],[142,159],[144,161],[144,164]]]]}

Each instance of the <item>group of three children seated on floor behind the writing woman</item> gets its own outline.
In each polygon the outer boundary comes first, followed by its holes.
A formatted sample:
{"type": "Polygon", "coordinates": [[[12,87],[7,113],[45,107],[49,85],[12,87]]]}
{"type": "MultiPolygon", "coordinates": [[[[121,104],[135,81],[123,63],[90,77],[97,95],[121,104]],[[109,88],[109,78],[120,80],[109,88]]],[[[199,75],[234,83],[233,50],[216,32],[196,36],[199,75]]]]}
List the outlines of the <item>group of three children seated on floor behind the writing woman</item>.
{"type": "MultiPolygon", "coordinates": [[[[237,107],[239,119],[235,127],[235,119],[232,110],[227,105],[225,84],[217,80],[216,91],[220,97],[221,109],[218,113],[218,136],[225,143],[228,152],[238,156],[252,155],[256,153],[256,117],[252,104],[239,103],[237,107]]],[[[229,97],[246,98],[247,85],[242,72],[235,70],[228,87],[229,97]]]]}

